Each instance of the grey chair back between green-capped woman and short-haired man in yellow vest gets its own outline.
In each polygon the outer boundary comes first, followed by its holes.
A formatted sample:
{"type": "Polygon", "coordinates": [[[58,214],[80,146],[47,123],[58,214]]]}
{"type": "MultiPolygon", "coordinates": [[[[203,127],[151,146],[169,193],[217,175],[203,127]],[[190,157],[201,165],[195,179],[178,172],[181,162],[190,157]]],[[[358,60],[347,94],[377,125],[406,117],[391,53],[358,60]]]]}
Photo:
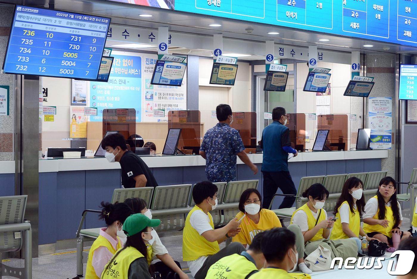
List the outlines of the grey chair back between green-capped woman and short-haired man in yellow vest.
{"type": "Polygon", "coordinates": [[[191,184],[157,186],[153,194],[152,216],[161,220],[154,228],[157,232],[179,231],[184,228],[189,204],[191,184]]]}

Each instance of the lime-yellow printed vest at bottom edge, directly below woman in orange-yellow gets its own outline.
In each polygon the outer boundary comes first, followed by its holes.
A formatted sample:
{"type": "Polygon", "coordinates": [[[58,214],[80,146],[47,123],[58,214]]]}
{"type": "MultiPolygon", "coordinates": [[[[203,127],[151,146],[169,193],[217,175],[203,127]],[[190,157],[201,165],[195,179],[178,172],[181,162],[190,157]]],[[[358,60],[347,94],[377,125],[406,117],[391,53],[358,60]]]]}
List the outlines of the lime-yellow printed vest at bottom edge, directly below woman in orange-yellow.
{"type": "Polygon", "coordinates": [[[258,271],[256,265],[245,256],[232,254],[219,259],[207,271],[206,279],[243,279],[258,271]]]}

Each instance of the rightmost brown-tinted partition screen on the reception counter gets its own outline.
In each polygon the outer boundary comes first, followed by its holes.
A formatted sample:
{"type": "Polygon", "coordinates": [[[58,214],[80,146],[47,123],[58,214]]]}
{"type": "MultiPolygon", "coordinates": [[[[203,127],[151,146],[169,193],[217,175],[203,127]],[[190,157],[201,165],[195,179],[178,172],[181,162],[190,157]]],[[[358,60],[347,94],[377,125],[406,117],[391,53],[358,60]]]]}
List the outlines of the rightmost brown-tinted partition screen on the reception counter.
{"type": "Polygon", "coordinates": [[[350,148],[348,146],[349,134],[347,114],[318,115],[317,130],[330,130],[329,137],[327,138],[327,147],[330,150],[348,150],[350,148]]]}

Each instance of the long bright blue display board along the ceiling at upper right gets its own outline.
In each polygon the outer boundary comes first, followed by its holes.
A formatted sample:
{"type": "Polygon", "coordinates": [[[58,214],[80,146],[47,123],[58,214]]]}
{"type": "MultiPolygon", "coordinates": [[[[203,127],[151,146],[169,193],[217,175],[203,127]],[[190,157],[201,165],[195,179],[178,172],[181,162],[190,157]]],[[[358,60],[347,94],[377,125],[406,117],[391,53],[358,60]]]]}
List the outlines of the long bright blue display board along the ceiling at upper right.
{"type": "Polygon", "coordinates": [[[415,0],[175,0],[175,10],[417,47],[415,0]]]}

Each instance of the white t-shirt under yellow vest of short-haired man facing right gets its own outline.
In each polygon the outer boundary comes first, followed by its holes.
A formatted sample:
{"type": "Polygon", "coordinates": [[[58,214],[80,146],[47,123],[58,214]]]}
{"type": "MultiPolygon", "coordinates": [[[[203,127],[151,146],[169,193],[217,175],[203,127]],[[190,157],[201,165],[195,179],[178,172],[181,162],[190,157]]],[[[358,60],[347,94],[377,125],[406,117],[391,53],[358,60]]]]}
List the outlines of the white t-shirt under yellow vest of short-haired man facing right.
{"type": "MultiPolygon", "coordinates": [[[[210,213],[209,213],[210,214],[210,213]]],[[[208,230],[213,230],[213,228],[210,225],[210,217],[206,215],[201,210],[194,211],[190,216],[190,224],[191,227],[193,227],[199,235],[202,235],[204,232],[207,232],[208,230]]],[[[188,261],[188,269],[190,269],[191,275],[195,277],[198,270],[201,269],[201,267],[204,264],[204,261],[206,261],[207,256],[201,256],[196,260],[188,261]]]]}

